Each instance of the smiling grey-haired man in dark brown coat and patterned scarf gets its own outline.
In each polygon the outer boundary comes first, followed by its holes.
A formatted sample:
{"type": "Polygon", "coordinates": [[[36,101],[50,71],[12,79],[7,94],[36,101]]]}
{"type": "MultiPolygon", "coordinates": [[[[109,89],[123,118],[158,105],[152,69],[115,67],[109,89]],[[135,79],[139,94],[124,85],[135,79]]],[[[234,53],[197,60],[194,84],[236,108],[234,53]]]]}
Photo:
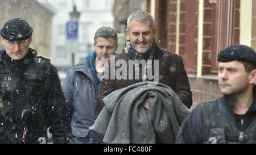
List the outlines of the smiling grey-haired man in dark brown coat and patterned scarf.
{"type": "MultiPolygon", "coordinates": [[[[101,111],[104,107],[104,102],[102,99],[106,97],[109,93],[114,90],[121,89],[133,85],[134,83],[142,81],[154,81],[154,79],[144,78],[146,74],[143,72],[142,65],[139,65],[139,71],[133,69],[132,72],[129,71],[129,66],[134,66],[133,63],[135,60],[138,61],[151,61],[152,66],[154,66],[154,60],[158,60],[159,66],[158,71],[155,71],[155,76],[158,76],[159,83],[163,83],[171,87],[175,93],[178,95],[180,100],[188,108],[192,105],[192,93],[190,90],[188,76],[185,72],[184,65],[181,59],[181,56],[176,55],[173,52],[169,52],[166,49],[160,48],[155,41],[155,21],[151,14],[146,11],[137,11],[129,16],[127,19],[127,41],[125,42],[125,47],[122,53],[119,55],[110,58],[109,68],[106,70],[118,70],[123,66],[125,67],[127,77],[122,79],[107,79],[104,78],[100,81],[100,87],[98,91],[97,98],[97,108],[98,111],[101,111]],[[119,60],[125,61],[127,65],[123,66],[114,66],[112,60],[114,59],[115,64],[119,60]],[[133,60],[133,61],[130,61],[133,60]],[[129,71],[129,73],[128,73],[129,71]],[[134,78],[133,76],[139,75],[139,79],[134,78]]],[[[147,109],[150,109],[150,105],[147,102],[147,99],[144,100],[143,106],[147,109]]]]}

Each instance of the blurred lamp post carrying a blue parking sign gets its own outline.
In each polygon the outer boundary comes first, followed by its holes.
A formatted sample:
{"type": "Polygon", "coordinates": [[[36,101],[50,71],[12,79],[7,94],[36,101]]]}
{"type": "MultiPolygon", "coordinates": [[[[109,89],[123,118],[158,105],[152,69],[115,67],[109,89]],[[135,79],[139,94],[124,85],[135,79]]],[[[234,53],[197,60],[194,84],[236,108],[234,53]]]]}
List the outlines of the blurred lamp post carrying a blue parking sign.
{"type": "Polygon", "coordinates": [[[78,32],[79,32],[79,16],[80,12],[76,10],[76,5],[73,2],[73,11],[69,12],[70,21],[67,22],[67,50],[72,55],[72,65],[75,65],[75,53],[78,48],[78,32]]]}

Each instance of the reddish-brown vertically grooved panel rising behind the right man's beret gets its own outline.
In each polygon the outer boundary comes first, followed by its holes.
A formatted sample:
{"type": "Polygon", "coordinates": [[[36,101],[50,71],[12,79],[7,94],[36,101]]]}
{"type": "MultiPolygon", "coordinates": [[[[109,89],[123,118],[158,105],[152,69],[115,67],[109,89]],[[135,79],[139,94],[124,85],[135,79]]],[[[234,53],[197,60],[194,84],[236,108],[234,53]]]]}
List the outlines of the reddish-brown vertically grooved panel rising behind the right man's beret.
{"type": "Polygon", "coordinates": [[[213,6],[213,40],[210,73],[217,73],[218,53],[239,43],[240,0],[217,1],[213,6]]]}

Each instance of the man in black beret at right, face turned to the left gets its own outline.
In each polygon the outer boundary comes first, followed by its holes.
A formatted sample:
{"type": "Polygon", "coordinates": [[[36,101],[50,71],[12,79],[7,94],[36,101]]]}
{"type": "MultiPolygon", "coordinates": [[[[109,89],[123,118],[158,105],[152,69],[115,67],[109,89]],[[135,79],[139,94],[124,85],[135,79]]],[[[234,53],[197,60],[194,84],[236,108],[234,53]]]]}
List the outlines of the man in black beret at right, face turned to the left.
{"type": "Polygon", "coordinates": [[[256,53],[232,45],[218,54],[223,97],[200,103],[181,125],[176,143],[256,143],[256,53]]]}

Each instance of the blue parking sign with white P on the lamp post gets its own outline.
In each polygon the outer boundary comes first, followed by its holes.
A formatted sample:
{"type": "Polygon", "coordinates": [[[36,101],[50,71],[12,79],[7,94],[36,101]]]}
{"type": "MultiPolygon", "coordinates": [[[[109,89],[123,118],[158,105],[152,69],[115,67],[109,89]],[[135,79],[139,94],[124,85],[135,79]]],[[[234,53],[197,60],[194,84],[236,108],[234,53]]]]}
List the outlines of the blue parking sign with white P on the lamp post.
{"type": "Polygon", "coordinates": [[[77,39],[78,38],[78,22],[67,22],[67,39],[77,39]]]}

